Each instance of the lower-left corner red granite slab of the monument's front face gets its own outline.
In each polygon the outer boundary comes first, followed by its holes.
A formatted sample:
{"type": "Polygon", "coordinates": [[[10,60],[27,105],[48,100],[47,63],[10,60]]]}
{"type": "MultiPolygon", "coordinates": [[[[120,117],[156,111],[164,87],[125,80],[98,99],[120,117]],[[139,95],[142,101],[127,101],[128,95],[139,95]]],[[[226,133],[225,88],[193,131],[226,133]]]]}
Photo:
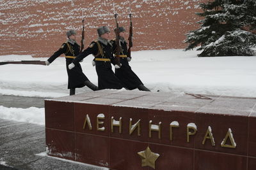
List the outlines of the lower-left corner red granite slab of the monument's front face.
{"type": "Polygon", "coordinates": [[[74,132],[45,128],[47,154],[63,159],[75,160],[74,132]]]}

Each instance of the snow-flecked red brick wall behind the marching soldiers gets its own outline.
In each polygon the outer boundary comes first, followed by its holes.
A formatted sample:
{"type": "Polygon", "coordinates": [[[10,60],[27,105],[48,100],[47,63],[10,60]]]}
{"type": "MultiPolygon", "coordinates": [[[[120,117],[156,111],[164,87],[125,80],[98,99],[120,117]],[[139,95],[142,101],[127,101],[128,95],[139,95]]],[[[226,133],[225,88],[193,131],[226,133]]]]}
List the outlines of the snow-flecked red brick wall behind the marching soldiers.
{"type": "MultiPolygon", "coordinates": [[[[134,47],[132,50],[185,48],[182,41],[200,20],[202,0],[131,0],[134,47]]],[[[113,0],[2,0],[0,4],[0,55],[29,54],[49,57],[75,29],[81,40],[82,13],[86,43],[97,38],[97,27],[115,27],[113,3],[120,26],[129,29],[129,1],[113,0]]],[[[111,32],[114,37],[114,32],[111,32]]],[[[127,34],[128,35],[128,34],[127,34]]]]}

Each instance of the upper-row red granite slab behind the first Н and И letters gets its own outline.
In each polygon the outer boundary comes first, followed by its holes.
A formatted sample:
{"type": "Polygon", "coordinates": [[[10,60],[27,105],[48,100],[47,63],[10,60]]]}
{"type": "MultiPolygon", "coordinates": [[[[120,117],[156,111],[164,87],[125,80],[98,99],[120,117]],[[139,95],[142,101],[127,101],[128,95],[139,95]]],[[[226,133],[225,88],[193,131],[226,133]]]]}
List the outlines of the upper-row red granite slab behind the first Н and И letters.
{"type": "Polygon", "coordinates": [[[148,141],[148,110],[143,108],[128,108],[120,106],[109,106],[109,136],[115,138],[134,139],[138,141],[148,141]],[[113,132],[111,131],[111,117],[119,121],[122,118],[122,132],[119,132],[119,127],[113,125],[113,132]],[[140,120],[139,127],[134,129],[130,134],[130,118],[131,125],[136,125],[140,120]],[[139,133],[139,134],[138,134],[139,133]]]}

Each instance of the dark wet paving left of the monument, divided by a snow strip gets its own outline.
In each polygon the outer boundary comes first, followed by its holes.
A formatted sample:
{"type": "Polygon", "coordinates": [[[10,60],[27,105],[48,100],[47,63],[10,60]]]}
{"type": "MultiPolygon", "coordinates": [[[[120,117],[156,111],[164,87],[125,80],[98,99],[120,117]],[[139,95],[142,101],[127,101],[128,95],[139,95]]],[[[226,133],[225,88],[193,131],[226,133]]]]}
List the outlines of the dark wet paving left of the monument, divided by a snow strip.
{"type": "MultiPolygon", "coordinates": [[[[44,98],[0,96],[0,106],[7,108],[44,108],[44,98]]],[[[0,170],[2,169],[102,169],[100,167],[38,156],[45,152],[44,125],[14,122],[0,118],[0,170]]]]}

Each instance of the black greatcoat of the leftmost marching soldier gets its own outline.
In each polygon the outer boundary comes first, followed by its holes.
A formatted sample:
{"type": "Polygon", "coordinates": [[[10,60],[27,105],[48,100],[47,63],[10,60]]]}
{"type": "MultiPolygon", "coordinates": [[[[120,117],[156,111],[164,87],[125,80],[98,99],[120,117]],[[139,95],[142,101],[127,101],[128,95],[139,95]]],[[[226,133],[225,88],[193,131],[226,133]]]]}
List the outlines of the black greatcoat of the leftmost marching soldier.
{"type": "Polygon", "coordinates": [[[67,58],[67,56],[77,56],[80,51],[80,46],[77,43],[66,42],[63,43],[61,48],[54,52],[54,54],[48,59],[48,61],[51,63],[54,61],[57,57],[59,57],[61,54],[65,53],[66,56],[66,68],[68,73],[68,89],[75,89],[79,87],[84,87],[84,81],[88,80],[88,78],[84,75],[82,67],[79,63],[76,64],[76,67],[73,69],[68,69],[68,65],[71,64],[72,58],[67,58]],[[70,45],[70,48],[68,48],[68,45],[70,45]],[[71,50],[71,51],[70,51],[71,50]]]}

